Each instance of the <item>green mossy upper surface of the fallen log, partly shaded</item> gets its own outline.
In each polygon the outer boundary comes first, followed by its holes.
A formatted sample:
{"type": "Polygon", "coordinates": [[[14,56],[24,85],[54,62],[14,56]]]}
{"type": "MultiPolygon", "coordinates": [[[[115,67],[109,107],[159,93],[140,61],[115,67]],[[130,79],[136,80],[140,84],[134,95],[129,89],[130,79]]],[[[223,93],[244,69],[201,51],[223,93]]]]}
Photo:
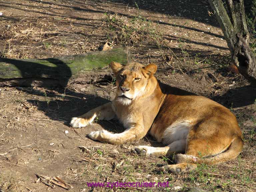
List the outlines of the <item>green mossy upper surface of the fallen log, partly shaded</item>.
{"type": "Polygon", "coordinates": [[[82,71],[106,67],[111,61],[126,64],[127,51],[113,49],[48,59],[0,58],[0,78],[69,78],[77,76],[82,71]]]}

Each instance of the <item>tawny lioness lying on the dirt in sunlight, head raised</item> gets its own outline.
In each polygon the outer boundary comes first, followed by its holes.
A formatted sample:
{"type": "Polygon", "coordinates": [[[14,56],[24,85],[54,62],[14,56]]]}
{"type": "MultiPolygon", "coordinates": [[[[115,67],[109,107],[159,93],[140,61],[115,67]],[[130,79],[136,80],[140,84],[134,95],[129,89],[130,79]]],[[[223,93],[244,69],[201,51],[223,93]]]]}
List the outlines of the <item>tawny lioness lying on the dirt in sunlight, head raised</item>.
{"type": "Polygon", "coordinates": [[[99,106],[71,125],[85,127],[96,117],[115,116],[126,130],[113,134],[93,131],[88,137],[111,144],[143,138],[147,132],[166,147],[136,146],[131,151],[157,157],[174,156],[177,164],[160,168],[177,174],[200,163],[217,164],[236,158],[243,149],[242,133],[236,117],[224,106],[202,96],[159,82],[155,64],[131,62],[125,66],[111,62],[117,92],[112,102],[99,106]]]}

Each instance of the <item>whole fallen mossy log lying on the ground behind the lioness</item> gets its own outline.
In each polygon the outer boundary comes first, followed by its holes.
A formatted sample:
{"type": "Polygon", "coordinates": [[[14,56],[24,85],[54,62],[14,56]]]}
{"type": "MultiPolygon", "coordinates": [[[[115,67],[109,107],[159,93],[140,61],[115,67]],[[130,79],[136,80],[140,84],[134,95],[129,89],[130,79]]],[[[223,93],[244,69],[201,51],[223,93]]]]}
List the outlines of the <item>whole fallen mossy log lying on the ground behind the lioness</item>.
{"type": "Polygon", "coordinates": [[[48,59],[0,58],[0,86],[65,87],[71,79],[106,67],[111,61],[126,64],[128,51],[113,49],[48,59]]]}

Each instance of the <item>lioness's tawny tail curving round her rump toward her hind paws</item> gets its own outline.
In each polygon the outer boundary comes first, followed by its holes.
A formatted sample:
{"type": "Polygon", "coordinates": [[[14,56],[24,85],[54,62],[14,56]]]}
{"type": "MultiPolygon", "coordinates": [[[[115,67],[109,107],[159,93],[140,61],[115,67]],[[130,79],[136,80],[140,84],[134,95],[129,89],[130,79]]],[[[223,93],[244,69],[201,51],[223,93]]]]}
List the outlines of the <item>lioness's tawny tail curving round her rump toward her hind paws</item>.
{"type": "Polygon", "coordinates": [[[198,158],[191,155],[185,155],[185,154],[177,154],[175,155],[175,161],[176,163],[198,163],[198,164],[207,164],[207,165],[215,165],[218,163],[223,163],[232,159],[235,159],[242,151],[243,149],[243,140],[241,137],[236,136],[233,141],[231,142],[229,148],[218,155],[215,155],[213,157],[203,157],[198,158]]]}

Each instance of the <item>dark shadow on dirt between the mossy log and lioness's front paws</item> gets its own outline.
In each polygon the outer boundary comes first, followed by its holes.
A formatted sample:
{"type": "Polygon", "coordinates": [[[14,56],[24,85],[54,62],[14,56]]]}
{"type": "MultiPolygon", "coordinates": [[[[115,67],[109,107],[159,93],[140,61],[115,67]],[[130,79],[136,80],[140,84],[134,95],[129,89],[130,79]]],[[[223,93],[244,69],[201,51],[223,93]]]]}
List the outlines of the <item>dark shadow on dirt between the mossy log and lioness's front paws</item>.
{"type": "Polygon", "coordinates": [[[93,94],[76,93],[64,88],[59,88],[58,94],[33,91],[29,91],[29,93],[41,96],[42,100],[27,99],[27,102],[36,106],[38,110],[44,112],[50,119],[61,121],[67,126],[70,126],[69,123],[72,117],[78,117],[97,106],[109,102],[108,99],[103,97],[93,94]]]}

